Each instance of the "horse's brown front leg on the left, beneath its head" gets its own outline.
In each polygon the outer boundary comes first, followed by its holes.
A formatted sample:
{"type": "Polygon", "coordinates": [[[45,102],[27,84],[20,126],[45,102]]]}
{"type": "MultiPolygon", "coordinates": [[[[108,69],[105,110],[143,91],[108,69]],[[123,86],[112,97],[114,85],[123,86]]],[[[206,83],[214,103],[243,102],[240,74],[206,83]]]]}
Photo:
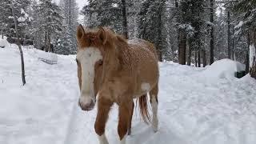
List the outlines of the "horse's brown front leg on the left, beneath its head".
{"type": "Polygon", "coordinates": [[[94,129],[98,134],[98,139],[100,144],[108,144],[109,142],[106,139],[105,127],[108,115],[110,112],[110,107],[113,105],[113,102],[107,100],[106,98],[98,98],[98,113],[94,129]]]}

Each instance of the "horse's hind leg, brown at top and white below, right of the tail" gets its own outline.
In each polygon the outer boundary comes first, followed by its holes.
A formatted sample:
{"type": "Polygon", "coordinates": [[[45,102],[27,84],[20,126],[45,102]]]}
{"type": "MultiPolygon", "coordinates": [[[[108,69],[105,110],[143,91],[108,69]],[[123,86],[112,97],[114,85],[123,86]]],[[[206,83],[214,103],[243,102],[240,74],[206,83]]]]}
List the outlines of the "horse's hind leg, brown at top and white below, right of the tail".
{"type": "Polygon", "coordinates": [[[158,131],[158,85],[150,90],[150,104],[153,112],[152,127],[154,132],[158,131]]]}

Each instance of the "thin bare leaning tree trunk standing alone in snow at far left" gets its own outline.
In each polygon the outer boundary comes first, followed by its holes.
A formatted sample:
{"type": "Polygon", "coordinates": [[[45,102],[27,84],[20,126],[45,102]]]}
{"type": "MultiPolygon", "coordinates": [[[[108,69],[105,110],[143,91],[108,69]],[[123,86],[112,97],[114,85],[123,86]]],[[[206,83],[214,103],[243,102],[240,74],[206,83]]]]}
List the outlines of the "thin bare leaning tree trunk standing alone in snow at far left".
{"type": "Polygon", "coordinates": [[[26,84],[26,78],[25,78],[25,64],[24,64],[24,58],[23,58],[23,51],[22,51],[22,46],[21,46],[21,42],[20,42],[20,38],[18,36],[18,24],[17,24],[17,18],[14,12],[14,3],[12,0],[10,0],[10,7],[11,7],[11,11],[14,17],[14,25],[15,25],[15,31],[16,31],[16,37],[18,38],[18,50],[19,53],[21,55],[21,62],[22,62],[22,83],[23,86],[26,84]]]}

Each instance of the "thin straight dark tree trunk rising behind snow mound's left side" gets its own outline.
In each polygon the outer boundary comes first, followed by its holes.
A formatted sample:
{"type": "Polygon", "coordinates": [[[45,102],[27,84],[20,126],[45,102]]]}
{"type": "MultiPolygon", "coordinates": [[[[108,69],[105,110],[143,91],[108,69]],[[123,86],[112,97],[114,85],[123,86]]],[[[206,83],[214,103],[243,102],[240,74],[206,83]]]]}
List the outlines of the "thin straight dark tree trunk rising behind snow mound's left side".
{"type": "MultiPolygon", "coordinates": [[[[214,0],[210,0],[210,22],[214,23],[214,0]]],[[[214,63],[214,26],[210,30],[210,65],[214,63]]]]}

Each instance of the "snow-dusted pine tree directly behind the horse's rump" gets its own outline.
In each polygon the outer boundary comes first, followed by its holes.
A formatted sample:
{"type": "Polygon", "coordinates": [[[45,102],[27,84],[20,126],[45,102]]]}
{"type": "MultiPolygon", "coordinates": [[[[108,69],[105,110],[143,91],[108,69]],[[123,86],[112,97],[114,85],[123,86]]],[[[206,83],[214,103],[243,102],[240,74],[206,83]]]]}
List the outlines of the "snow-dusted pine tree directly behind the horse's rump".
{"type": "Polygon", "coordinates": [[[162,51],[166,50],[166,38],[163,35],[164,10],[166,1],[144,1],[138,13],[138,38],[153,42],[162,62],[162,51]]]}

